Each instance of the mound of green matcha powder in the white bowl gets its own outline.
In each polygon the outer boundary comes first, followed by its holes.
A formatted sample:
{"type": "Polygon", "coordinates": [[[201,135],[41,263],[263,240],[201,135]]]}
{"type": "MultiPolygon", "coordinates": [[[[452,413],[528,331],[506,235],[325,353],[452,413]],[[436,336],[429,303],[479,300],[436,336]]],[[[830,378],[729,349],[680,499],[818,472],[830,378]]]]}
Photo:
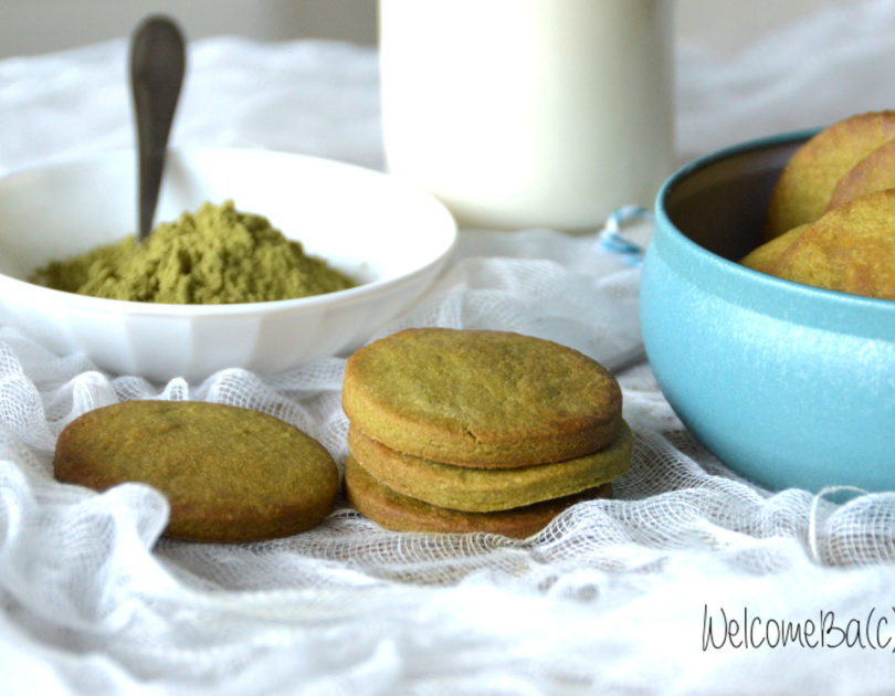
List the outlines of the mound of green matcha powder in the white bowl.
{"type": "Polygon", "coordinates": [[[50,263],[31,282],[112,299],[206,305],[291,299],[355,285],[233,201],[204,203],[161,223],[143,244],[128,236],[50,263]]]}

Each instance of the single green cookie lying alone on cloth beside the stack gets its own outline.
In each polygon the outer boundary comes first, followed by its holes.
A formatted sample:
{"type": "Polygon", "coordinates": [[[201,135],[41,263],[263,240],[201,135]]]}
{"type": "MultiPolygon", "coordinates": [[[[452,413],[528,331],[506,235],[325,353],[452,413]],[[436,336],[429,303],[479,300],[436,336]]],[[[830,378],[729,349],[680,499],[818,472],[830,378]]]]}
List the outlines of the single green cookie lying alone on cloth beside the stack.
{"type": "Polygon", "coordinates": [[[276,418],[201,401],[124,401],[60,434],[59,481],[105,491],[125,482],[170,503],[165,536],[255,541],[308,529],[333,509],[338,470],[324,446],[276,418]]]}

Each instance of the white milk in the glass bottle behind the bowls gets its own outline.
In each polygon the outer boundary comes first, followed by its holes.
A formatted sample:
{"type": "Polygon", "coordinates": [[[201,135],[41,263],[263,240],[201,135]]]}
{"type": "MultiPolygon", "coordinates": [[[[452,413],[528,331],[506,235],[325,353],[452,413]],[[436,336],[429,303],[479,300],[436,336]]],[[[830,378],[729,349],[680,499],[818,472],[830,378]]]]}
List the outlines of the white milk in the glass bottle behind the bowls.
{"type": "Polygon", "coordinates": [[[380,0],[388,168],[465,226],[593,228],[673,157],[670,0],[380,0]]]}

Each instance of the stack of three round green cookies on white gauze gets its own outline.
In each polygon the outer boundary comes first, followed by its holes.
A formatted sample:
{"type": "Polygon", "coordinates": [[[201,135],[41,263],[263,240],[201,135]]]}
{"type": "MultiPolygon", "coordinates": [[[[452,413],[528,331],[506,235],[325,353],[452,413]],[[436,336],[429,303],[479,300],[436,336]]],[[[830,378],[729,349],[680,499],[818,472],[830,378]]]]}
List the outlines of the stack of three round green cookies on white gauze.
{"type": "Polygon", "coordinates": [[[349,502],[383,527],[527,537],[610,494],[631,460],[621,390],[566,346],[409,329],[348,360],[349,502]]]}

